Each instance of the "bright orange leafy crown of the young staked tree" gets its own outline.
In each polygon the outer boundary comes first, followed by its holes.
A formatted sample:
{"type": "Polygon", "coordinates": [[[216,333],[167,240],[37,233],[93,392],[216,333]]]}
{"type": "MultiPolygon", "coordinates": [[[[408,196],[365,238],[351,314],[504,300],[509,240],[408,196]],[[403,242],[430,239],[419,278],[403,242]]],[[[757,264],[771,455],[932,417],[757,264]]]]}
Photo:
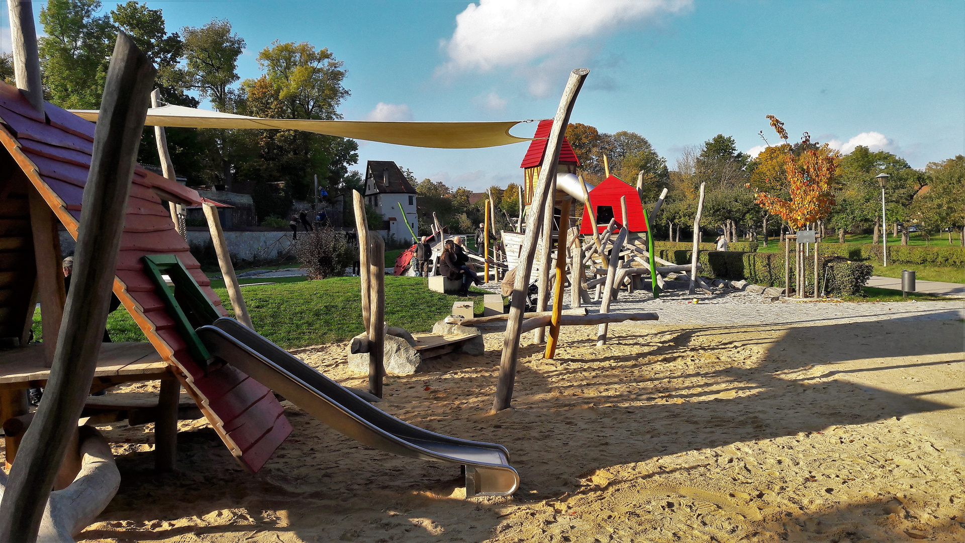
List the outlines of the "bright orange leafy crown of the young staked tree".
{"type": "MultiPolygon", "coordinates": [[[[787,141],[787,132],[777,117],[768,115],[771,126],[778,132],[781,139],[787,141]]],[[[811,143],[808,132],[804,132],[802,141],[811,143]]],[[[795,157],[787,146],[784,169],[790,199],[771,196],[767,192],[755,192],[757,203],[771,214],[777,214],[794,230],[800,230],[805,225],[820,220],[831,214],[835,205],[831,182],[841,156],[837,151],[828,147],[807,145],[799,156],[795,157]]]]}

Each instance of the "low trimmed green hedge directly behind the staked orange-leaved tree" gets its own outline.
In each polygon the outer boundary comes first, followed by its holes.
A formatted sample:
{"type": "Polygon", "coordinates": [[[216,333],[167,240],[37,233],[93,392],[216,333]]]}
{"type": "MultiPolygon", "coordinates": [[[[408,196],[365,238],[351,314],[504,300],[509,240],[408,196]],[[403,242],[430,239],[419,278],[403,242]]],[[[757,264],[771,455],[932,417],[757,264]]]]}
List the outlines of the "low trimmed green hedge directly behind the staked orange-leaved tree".
{"type": "MultiPolygon", "coordinates": [[[[655,247],[654,247],[655,248],[655,247]]],[[[675,264],[690,264],[692,252],[689,250],[658,250],[658,256],[675,264]]],[[[732,281],[745,279],[751,283],[770,287],[785,286],[785,258],[781,253],[761,253],[743,251],[700,251],[697,261],[701,264],[701,275],[732,281]]],[[[849,262],[836,255],[818,256],[820,274],[818,281],[827,277],[826,292],[831,296],[863,296],[862,287],[871,276],[871,265],[863,262],[849,262]]],[[[805,283],[813,292],[814,258],[805,259],[805,283]]],[[[790,284],[796,283],[794,262],[791,259],[790,284]]]]}

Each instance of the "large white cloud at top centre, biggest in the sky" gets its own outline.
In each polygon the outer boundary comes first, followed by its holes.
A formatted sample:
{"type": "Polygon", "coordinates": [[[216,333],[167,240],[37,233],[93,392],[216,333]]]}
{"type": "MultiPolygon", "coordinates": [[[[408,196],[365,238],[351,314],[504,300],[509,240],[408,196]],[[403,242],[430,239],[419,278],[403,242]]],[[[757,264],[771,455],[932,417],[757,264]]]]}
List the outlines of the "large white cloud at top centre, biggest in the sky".
{"type": "Polygon", "coordinates": [[[692,0],[480,0],[455,16],[441,43],[448,71],[487,71],[536,61],[569,46],[660,14],[685,11],[692,0]]]}

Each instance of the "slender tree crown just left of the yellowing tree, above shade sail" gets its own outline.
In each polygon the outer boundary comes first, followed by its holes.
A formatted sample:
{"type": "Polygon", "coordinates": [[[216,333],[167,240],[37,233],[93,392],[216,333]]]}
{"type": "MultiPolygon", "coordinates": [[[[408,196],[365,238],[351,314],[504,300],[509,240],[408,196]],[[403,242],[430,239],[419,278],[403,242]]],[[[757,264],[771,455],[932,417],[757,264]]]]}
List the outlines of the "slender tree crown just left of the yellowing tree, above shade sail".
{"type": "Polygon", "coordinates": [[[218,19],[201,28],[184,27],[181,34],[187,84],[218,111],[231,111],[231,85],[239,79],[237,59],[244,51],[244,40],[232,33],[232,23],[218,19]]]}

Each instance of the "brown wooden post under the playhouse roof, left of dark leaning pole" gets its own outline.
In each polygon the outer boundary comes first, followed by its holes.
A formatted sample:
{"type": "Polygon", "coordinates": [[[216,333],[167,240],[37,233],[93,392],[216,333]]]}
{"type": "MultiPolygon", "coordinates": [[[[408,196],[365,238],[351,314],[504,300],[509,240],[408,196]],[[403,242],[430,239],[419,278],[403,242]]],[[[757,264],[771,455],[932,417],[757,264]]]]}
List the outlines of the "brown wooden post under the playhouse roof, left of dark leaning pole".
{"type": "MultiPolygon", "coordinates": [[[[61,262],[60,234],[56,215],[34,186],[28,186],[30,199],[30,229],[34,238],[34,259],[37,264],[37,289],[41,299],[41,329],[43,330],[43,365],[50,367],[57,348],[61,321],[64,319],[64,272],[61,262]]],[[[31,319],[33,323],[33,307],[31,319]]]]}

